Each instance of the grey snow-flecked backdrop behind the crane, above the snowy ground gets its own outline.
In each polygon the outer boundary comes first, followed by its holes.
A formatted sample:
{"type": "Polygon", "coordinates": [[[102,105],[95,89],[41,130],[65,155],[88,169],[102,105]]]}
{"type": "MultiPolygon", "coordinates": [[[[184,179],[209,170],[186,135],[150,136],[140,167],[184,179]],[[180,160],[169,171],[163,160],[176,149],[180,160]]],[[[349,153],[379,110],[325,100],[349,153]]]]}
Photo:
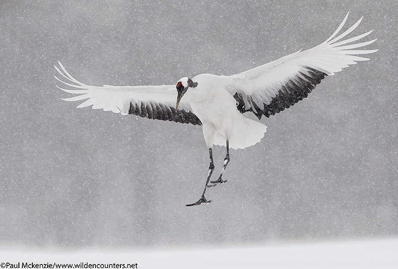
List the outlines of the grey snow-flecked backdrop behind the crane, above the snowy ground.
{"type": "MultiPolygon", "coordinates": [[[[0,245],[124,248],[398,236],[395,0],[2,0],[0,245]],[[201,127],[62,101],[61,61],[92,85],[234,74],[374,30],[379,49],[261,122],[208,205],[201,127]],[[58,83],[59,84],[59,83],[58,83]]],[[[215,147],[215,174],[224,158],[215,147]]]]}

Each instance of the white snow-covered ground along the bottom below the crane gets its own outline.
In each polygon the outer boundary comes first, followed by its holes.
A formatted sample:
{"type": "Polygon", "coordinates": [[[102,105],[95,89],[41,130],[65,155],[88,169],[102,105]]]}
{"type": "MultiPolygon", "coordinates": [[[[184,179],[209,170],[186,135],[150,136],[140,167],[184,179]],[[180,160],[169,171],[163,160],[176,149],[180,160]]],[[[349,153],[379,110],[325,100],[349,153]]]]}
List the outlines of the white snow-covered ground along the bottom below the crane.
{"type": "MultiPolygon", "coordinates": [[[[124,264],[130,268],[398,268],[398,239],[163,251],[0,251],[0,263],[124,264]]],[[[11,268],[11,267],[8,267],[11,268]]],[[[88,267],[86,267],[88,268],[88,267]]],[[[106,268],[106,267],[105,267],[106,268]]],[[[116,268],[116,267],[113,267],[116,268]]]]}

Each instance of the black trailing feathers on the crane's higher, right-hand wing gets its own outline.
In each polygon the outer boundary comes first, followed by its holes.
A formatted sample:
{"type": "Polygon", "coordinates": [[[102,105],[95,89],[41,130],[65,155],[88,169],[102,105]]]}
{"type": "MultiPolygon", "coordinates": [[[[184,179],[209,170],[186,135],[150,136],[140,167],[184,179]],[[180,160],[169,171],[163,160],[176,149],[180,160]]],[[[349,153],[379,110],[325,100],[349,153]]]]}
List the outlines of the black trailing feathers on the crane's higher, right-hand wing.
{"type": "Polygon", "coordinates": [[[258,104],[251,99],[253,107],[245,108],[242,94],[235,93],[234,98],[237,101],[236,107],[240,113],[253,112],[256,117],[261,120],[264,115],[269,118],[286,108],[295,105],[298,101],[304,99],[321,82],[326,73],[305,67],[306,73],[300,72],[295,78],[290,79],[284,86],[279,89],[277,95],[272,98],[269,104],[263,103],[264,109],[259,108],[258,104]],[[254,108],[254,110],[253,110],[254,108]]]}

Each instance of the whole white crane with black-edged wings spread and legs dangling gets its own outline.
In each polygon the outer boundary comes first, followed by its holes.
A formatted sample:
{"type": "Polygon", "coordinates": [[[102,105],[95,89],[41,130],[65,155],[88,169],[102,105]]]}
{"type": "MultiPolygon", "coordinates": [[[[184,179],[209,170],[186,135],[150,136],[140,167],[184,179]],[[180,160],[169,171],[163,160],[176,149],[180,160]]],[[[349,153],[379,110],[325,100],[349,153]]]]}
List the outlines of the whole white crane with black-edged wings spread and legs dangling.
{"type": "Polygon", "coordinates": [[[230,76],[199,74],[192,79],[183,77],[177,85],[91,86],[73,78],[58,62],[61,69],[55,68],[67,81],[56,78],[73,88],[62,90],[78,94],[64,100],[87,99],[78,108],[92,105],[93,109],[123,115],[202,125],[210,165],[201,198],[187,206],[199,205],[211,202],[204,197],[207,188],[226,181],[222,176],[230,159],[229,147],[254,145],[267,131],[265,125],[245,118],[243,113],[252,112],[259,120],[262,116],[275,115],[307,97],[325,76],[334,75],[358,61],[369,60],[358,55],[377,51],[355,50],[376,41],[354,43],[372,31],[344,39],[362,18],[337,36],[347,17],[348,13],[336,31],[320,45],[230,76]],[[226,155],[218,179],[210,181],[214,170],[213,144],[224,145],[226,155]]]}

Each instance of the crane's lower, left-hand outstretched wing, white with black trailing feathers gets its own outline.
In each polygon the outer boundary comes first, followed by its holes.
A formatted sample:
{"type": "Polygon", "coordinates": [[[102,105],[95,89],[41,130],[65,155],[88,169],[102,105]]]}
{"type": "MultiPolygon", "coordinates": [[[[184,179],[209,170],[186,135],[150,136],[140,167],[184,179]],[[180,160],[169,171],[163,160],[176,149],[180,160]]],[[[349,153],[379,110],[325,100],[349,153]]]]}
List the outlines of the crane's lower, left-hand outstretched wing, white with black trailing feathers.
{"type": "Polygon", "coordinates": [[[74,89],[61,90],[68,93],[79,94],[74,97],[65,98],[65,101],[82,101],[78,108],[93,105],[93,109],[103,109],[122,115],[133,114],[140,117],[201,125],[199,118],[192,112],[187,98],[181,100],[179,109],[176,111],[177,90],[173,85],[162,86],[90,86],[83,84],[73,78],[58,62],[55,69],[66,79],[55,78],[74,89]]]}

